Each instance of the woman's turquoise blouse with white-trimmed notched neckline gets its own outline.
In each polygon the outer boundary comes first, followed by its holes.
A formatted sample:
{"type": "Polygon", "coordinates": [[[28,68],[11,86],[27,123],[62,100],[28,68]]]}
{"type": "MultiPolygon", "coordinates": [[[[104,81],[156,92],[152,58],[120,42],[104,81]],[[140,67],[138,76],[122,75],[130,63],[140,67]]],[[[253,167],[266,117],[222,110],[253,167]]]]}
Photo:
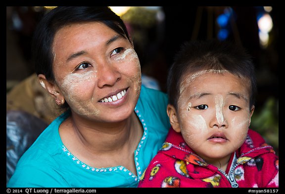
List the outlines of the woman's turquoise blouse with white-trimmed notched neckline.
{"type": "Polygon", "coordinates": [[[19,159],[7,187],[137,187],[143,171],[161,148],[168,129],[167,95],[142,86],[135,108],[143,126],[134,159],[138,176],[124,166],[95,168],[80,161],[63,145],[58,127],[69,115],[58,116],[19,159]]]}

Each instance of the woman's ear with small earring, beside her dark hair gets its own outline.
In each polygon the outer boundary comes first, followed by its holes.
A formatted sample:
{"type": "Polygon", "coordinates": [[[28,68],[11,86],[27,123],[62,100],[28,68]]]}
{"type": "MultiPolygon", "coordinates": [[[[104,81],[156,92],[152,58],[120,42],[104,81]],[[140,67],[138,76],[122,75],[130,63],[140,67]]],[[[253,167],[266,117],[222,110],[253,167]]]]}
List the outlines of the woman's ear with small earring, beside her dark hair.
{"type": "Polygon", "coordinates": [[[46,76],[43,74],[38,75],[38,80],[42,87],[44,87],[56,101],[60,101],[61,104],[64,103],[64,97],[55,82],[47,80],[46,76]]]}

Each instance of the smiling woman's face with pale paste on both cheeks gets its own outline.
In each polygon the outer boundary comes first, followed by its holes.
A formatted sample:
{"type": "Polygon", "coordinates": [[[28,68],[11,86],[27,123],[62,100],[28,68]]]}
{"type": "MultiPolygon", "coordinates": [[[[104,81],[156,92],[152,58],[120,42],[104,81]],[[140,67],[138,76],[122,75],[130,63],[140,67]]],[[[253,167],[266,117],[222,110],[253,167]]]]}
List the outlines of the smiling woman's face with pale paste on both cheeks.
{"type": "Polygon", "coordinates": [[[71,24],[55,34],[52,51],[55,82],[73,113],[102,122],[131,115],[141,67],[128,39],[102,23],[71,24]]]}

